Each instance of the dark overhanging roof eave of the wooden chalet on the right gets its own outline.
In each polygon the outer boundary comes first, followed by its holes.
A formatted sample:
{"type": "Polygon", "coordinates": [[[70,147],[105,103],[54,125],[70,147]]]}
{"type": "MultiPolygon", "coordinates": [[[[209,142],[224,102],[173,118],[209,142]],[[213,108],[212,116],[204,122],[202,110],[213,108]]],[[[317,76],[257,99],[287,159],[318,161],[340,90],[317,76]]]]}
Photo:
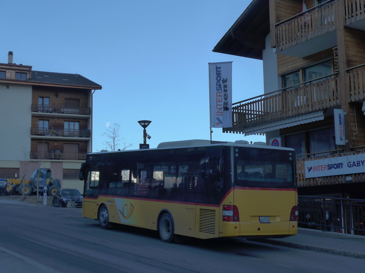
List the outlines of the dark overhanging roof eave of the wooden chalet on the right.
{"type": "Polygon", "coordinates": [[[269,33],[269,1],[253,0],[212,51],[262,60],[269,33]]]}

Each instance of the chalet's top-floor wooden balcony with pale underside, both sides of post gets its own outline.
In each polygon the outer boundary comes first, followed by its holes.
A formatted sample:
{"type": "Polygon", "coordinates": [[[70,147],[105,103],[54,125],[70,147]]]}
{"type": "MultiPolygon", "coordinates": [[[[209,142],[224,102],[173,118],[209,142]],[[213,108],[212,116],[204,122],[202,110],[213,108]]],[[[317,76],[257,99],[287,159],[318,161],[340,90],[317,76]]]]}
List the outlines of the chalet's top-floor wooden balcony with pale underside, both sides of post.
{"type": "Polygon", "coordinates": [[[278,54],[303,58],[337,45],[337,22],[365,31],[365,3],[336,0],[301,12],[275,25],[278,54]],[[336,16],[345,16],[336,20],[336,16]]]}

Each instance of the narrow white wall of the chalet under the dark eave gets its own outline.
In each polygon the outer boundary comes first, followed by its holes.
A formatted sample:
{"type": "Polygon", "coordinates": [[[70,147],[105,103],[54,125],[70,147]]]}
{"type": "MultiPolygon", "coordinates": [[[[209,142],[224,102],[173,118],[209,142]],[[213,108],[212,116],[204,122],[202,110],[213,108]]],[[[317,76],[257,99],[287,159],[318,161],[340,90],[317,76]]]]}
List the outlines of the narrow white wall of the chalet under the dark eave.
{"type": "Polygon", "coordinates": [[[265,49],[262,51],[262,66],[264,68],[264,94],[281,88],[281,80],[277,75],[276,49],[270,47],[270,34],[265,39],[265,49]]]}

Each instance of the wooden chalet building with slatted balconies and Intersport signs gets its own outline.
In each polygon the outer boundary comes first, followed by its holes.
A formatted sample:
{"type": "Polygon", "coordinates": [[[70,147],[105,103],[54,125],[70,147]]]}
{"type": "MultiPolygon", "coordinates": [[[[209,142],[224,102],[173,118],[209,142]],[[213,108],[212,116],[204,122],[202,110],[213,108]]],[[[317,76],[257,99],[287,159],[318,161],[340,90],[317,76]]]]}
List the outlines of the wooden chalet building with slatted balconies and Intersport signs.
{"type": "Polygon", "coordinates": [[[364,0],[253,0],[213,51],[264,69],[223,132],[294,148],[300,195],[365,199],[364,0]]]}

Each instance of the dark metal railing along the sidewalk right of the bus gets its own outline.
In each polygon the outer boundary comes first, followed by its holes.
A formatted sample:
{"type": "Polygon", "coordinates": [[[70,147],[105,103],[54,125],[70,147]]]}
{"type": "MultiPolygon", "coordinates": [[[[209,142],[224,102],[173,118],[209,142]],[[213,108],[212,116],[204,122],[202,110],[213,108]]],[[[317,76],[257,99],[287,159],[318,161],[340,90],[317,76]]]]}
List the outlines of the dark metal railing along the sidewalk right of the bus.
{"type": "Polygon", "coordinates": [[[365,236],[365,199],[298,196],[298,227],[365,236]]]}

